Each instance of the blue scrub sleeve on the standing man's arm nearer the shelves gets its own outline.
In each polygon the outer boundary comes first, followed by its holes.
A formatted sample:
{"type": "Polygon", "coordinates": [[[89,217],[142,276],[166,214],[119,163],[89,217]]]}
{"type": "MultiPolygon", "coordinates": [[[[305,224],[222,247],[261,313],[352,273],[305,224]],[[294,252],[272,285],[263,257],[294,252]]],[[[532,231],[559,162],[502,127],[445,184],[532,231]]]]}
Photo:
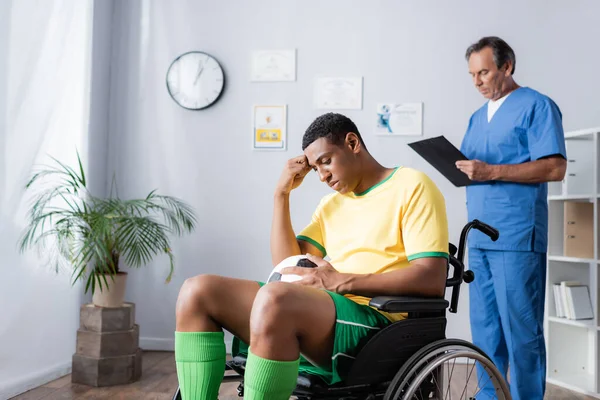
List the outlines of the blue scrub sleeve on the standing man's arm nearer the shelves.
{"type": "Polygon", "coordinates": [[[567,158],[562,114],[552,100],[539,101],[534,106],[527,140],[532,161],[556,154],[567,158]]]}

